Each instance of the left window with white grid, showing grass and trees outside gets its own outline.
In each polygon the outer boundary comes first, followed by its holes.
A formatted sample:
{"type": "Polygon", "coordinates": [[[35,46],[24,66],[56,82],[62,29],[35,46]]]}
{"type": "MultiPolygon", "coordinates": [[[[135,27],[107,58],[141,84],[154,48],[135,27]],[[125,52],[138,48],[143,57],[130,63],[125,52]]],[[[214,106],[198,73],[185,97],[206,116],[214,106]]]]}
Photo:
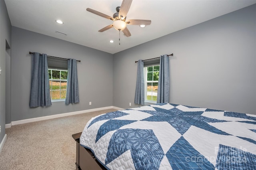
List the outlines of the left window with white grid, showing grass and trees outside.
{"type": "Polygon", "coordinates": [[[48,69],[48,73],[52,101],[64,101],[66,99],[68,71],[48,69]]]}

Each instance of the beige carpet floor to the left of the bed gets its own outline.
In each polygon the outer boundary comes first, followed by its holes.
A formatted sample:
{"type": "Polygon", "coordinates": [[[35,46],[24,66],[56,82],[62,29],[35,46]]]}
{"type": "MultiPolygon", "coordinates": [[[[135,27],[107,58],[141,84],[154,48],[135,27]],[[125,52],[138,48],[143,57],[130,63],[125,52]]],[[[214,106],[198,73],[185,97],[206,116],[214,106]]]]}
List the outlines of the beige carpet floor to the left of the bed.
{"type": "Polygon", "coordinates": [[[75,170],[76,142],[81,132],[107,109],[46,121],[14,125],[6,129],[7,140],[0,153],[0,170],[75,170]]]}

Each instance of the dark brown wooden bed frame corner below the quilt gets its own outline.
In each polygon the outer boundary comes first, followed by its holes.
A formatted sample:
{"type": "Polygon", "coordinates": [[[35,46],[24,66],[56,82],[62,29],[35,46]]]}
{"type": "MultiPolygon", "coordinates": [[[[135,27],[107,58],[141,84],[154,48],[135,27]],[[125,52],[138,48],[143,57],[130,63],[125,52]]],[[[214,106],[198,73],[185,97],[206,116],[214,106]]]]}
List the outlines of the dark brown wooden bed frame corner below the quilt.
{"type": "Polygon", "coordinates": [[[76,170],[106,170],[89,149],[80,146],[81,134],[82,132],[72,134],[76,140],[76,170]]]}

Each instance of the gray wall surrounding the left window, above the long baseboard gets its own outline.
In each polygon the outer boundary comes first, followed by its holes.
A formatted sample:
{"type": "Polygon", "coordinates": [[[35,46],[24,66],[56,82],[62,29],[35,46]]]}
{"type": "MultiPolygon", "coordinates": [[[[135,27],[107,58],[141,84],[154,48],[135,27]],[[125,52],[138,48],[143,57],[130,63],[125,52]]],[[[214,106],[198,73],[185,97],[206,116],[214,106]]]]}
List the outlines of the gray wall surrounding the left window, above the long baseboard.
{"type": "Polygon", "coordinates": [[[110,53],[12,27],[11,66],[11,121],[113,105],[113,55],[110,53]],[[32,59],[29,51],[81,60],[77,63],[80,103],[66,106],[62,101],[52,102],[50,107],[29,107],[32,59]]]}

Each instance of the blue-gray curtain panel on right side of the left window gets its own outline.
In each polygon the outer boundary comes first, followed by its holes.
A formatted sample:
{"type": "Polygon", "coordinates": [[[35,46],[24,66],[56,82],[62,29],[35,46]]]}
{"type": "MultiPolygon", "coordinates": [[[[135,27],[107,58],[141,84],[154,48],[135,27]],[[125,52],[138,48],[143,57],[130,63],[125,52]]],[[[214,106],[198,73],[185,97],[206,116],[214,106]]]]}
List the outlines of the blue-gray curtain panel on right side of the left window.
{"type": "Polygon", "coordinates": [[[67,79],[66,105],[69,103],[78,103],[78,79],[76,69],[76,59],[68,59],[68,79],[67,79]]]}

